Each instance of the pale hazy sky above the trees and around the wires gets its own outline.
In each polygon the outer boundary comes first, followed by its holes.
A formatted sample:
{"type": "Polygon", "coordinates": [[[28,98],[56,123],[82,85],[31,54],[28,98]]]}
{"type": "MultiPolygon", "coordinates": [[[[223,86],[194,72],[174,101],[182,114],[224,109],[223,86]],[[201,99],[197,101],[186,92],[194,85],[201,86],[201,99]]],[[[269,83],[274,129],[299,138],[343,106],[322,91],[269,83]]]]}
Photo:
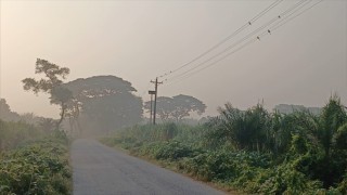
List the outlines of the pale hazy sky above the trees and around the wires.
{"type": "MultiPolygon", "coordinates": [[[[120,77],[146,101],[151,79],[190,62],[272,2],[1,0],[0,96],[15,112],[57,117],[47,95],[25,92],[21,83],[35,76],[40,57],[69,67],[67,81],[120,77]]],[[[284,0],[216,52],[297,2],[284,0]]],[[[347,1],[325,0],[216,65],[160,86],[158,95],[193,95],[208,106],[208,115],[227,102],[240,108],[261,100],[268,108],[280,103],[322,106],[334,92],[347,104],[346,53],[347,1]]]]}

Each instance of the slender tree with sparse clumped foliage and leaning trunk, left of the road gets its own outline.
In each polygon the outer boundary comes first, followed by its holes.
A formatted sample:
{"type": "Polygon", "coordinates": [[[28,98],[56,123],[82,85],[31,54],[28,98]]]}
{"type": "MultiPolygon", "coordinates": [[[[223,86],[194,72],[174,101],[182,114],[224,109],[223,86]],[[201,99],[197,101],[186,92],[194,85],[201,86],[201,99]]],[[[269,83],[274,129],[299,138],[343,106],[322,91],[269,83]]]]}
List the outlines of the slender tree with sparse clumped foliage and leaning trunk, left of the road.
{"type": "Polygon", "coordinates": [[[68,89],[62,87],[63,81],[69,74],[67,67],[60,67],[46,60],[37,58],[35,74],[43,74],[46,79],[36,80],[34,78],[25,78],[22,80],[25,91],[33,91],[35,94],[39,92],[48,93],[51,95],[51,104],[57,104],[61,106],[61,118],[56,122],[56,128],[64,119],[66,110],[66,103],[72,99],[72,92],[68,89]]]}

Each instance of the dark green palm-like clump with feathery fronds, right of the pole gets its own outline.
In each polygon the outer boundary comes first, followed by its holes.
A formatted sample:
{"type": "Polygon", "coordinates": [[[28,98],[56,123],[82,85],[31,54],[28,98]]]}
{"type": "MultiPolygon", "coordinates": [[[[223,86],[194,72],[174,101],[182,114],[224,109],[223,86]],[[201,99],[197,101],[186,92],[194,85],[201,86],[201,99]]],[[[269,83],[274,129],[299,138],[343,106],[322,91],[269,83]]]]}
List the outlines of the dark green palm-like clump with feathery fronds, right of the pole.
{"type": "Polygon", "coordinates": [[[230,103],[218,108],[219,116],[207,123],[214,145],[228,142],[237,150],[268,151],[271,140],[270,115],[261,104],[242,112],[230,103]]]}

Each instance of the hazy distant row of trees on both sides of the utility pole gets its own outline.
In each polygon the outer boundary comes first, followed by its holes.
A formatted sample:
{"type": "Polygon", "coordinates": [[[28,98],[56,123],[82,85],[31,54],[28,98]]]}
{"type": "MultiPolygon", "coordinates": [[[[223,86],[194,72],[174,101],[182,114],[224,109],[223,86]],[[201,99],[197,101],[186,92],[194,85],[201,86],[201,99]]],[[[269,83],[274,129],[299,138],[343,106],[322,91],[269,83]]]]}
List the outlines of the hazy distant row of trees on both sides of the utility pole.
{"type": "MultiPolygon", "coordinates": [[[[69,68],[41,58],[37,58],[35,73],[43,78],[25,78],[22,80],[23,88],[35,94],[49,94],[51,104],[61,107],[56,129],[63,122],[75,134],[83,131],[92,134],[107,133],[141,122],[143,107],[150,109],[150,103],[145,102],[143,105],[142,99],[134,94],[137,90],[131,83],[116,76],[93,76],[64,82],[69,68]]],[[[205,108],[202,101],[183,94],[163,96],[157,101],[157,114],[163,120],[180,121],[192,112],[201,115],[205,108]]]]}

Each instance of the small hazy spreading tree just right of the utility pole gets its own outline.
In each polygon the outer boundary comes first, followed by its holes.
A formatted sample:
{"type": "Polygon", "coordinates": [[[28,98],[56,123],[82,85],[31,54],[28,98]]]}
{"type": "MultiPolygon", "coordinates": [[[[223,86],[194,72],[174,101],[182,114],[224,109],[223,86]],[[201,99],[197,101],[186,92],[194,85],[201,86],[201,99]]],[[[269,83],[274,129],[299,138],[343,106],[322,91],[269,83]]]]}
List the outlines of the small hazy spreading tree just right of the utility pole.
{"type": "MultiPolygon", "coordinates": [[[[151,102],[145,102],[144,108],[151,109],[151,102]]],[[[192,112],[201,115],[205,109],[206,105],[193,96],[180,94],[174,98],[157,98],[156,113],[164,121],[169,118],[180,121],[182,118],[190,116],[192,112]]]]}

